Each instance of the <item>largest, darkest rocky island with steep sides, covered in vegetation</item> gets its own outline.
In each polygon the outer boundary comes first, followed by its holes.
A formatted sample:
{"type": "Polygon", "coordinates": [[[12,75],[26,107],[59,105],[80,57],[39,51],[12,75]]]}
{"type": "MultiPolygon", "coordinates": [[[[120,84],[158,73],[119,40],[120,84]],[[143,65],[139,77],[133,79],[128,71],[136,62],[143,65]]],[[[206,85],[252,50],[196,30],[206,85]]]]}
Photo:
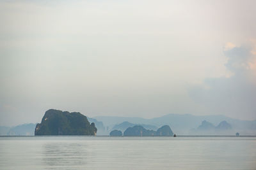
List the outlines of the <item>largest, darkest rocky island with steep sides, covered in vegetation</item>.
{"type": "Polygon", "coordinates": [[[87,117],[79,112],[48,110],[41,124],[35,128],[35,136],[40,135],[87,135],[94,136],[97,132],[95,124],[88,122],[87,117]]]}

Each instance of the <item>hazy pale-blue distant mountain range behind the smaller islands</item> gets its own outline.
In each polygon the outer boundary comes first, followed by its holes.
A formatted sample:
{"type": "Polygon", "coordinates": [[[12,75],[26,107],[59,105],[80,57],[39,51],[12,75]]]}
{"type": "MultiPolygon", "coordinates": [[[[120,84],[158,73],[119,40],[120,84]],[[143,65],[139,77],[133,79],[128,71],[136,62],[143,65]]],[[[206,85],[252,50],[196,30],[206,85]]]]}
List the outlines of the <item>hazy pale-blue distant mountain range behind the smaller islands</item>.
{"type": "MultiPolygon", "coordinates": [[[[197,131],[198,127],[205,120],[211,122],[213,127],[217,127],[220,122],[228,122],[232,129],[226,131],[227,133],[221,133],[216,131],[216,134],[228,134],[234,135],[239,132],[241,135],[256,135],[256,120],[238,120],[235,118],[225,117],[223,115],[205,115],[195,116],[190,114],[179,115],[179,114],[168,114],[163,117],[157,118],[140,118],[140,117],[93,117],[97,121],[103,122],[106,129],[113,129],[115,125],[122,124],[123,122],[130,122],[131,124],[144,124],[154,125],[157,128],[163,125],[170,125],[173,132],[179,135],[193,135],[200,134],[197,131]]],[[[223,129],[222,129],[223,130],[223,129]]],[[[110,130],[109,130],[110,131],[110,130]]]]}

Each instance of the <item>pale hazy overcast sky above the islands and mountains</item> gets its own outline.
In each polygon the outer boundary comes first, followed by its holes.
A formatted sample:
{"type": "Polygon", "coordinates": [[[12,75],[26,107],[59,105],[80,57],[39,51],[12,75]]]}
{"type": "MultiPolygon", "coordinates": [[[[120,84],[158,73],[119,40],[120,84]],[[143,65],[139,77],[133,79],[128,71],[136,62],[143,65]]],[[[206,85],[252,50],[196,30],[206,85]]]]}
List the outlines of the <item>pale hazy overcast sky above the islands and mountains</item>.
{"type": "Polygon", "coordinates": [[[54,108],[256,120],[256,1],[0,1],[0,125],[54,108]]]}

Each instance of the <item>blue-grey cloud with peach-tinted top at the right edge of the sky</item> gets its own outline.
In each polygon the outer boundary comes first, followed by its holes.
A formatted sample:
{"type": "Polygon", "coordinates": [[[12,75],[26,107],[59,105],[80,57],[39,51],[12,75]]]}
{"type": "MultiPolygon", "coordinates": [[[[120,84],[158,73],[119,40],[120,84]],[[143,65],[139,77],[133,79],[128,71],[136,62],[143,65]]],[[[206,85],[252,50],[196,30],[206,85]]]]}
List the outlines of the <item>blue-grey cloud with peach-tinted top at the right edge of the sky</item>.
{"type": "Polygon", "coordinates": [[[256,118],[255,41],[241,46],[227,43],[223,53],[230,77],[206,78],[204,86],[192,87],[190,96],[208,112],[230,117],[256,118]]]}

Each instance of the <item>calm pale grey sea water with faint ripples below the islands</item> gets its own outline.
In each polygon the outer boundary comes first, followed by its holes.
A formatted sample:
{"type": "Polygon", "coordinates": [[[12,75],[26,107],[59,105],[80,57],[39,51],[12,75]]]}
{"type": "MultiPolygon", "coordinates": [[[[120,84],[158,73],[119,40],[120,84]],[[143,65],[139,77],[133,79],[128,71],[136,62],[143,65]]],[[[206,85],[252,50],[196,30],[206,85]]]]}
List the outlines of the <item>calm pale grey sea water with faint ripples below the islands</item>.
{"type": "Polygon", "coordinates": [[[0,169],[256,169],[256,138],[0,138],[0,169]]]}

